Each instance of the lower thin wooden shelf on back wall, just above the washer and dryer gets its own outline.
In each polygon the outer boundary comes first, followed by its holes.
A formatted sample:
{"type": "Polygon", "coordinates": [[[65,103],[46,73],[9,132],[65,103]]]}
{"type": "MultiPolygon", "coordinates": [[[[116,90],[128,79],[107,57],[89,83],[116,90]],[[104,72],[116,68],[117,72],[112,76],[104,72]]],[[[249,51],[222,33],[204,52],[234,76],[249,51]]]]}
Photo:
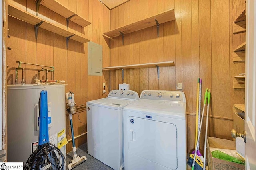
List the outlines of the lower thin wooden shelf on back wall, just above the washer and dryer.
{"type": "Polygon", "coordinates": [[[130,68],[145,68],[145,67],[156,67],[156,66],[174,66],[173,61],[165,61],[158,63],[146,63],[146,64],[135,64],[128,66],[114,66],[114,67],[104,67],[102,70],[118,70],[118,69],[130,69],[130,68]]]}

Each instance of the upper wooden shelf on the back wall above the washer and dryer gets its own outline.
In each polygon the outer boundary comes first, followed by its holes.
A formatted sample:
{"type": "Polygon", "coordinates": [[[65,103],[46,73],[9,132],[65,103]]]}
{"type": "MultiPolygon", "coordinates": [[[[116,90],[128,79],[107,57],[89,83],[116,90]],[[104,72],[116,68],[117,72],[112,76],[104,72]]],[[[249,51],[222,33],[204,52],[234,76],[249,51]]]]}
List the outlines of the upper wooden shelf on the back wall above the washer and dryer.
{"type": "Polygon", "coordinates": [[[122,32],[123,34],[128,34],[134,31],[138,31],[140,29],[152,27],[154,25],[157,25],[155,19],[158,21],[159,24],[175,20],[174,9],[166,10],[144,20],[140,20],[129,25],[113,29],[111,31],[107,31],[103,33],[103,35],[113,38],[120,36],[120,32],[122,32]]]}

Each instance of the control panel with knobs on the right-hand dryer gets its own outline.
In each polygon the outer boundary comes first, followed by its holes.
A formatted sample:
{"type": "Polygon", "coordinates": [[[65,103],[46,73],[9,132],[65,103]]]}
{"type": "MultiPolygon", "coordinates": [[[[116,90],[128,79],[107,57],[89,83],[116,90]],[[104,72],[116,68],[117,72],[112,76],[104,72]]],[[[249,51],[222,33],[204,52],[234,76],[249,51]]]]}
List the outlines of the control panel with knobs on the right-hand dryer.
{"type": "Polygon", "coordinates": [[[140,94],[140,99],[186,102],[184,92],[167,90],[144,90],[140,94]]]}

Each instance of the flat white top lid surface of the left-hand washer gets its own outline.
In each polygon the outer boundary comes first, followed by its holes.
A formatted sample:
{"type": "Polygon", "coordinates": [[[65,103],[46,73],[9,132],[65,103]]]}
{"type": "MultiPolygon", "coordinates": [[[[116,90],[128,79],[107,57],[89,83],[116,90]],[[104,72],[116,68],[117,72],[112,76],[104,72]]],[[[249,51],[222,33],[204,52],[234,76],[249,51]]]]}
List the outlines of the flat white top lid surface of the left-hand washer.
{"type": "Polygon", "coordinates": [[[115,99],[115,98],[102,98],[102,99],[88,101],[88,102],[86,102],[86,104],[120,110],[120,109],[123,109],[124,106],[127,106],[128,104],[130,104],[132,102],[134,102],[134,101],[133,100],[124,100],[124,99],[115,99]]]}

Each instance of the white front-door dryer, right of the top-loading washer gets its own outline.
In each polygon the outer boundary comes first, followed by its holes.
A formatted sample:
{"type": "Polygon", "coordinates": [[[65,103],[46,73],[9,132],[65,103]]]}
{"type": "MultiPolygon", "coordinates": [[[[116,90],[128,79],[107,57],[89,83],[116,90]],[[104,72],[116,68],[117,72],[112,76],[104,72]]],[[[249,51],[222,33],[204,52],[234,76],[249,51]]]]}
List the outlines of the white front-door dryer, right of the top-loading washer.
{"type": "Polygon", "coordinates": [[[125,170],[186,170],[183,92],[144,90],[124,107],[125,170]]]}

